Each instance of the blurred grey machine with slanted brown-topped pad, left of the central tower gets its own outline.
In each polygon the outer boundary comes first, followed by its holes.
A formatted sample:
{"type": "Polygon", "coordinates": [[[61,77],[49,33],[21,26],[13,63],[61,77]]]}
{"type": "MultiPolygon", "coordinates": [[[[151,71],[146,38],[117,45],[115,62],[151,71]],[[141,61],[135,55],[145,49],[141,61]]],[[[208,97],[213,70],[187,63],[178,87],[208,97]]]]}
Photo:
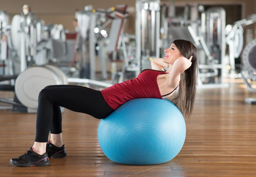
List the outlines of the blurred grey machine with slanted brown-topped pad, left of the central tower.
{"type": "MultiPolygon", "coordinates": [[[[127,5],[117,5],[107,10],[85,6],[77,12],[78,34],[74,53],[80,55],[74,68],[79,69],[80,78],[96,79],[96,55],[101,62],[102,80],[107,80],[106,55],[117,60],[117,49],[121,45],[126,21],[127,5]],[[109,33],[106,31],[111,23],[109,33]]],[[[74,63],[74,62],[72,62],[74,63]]]]}

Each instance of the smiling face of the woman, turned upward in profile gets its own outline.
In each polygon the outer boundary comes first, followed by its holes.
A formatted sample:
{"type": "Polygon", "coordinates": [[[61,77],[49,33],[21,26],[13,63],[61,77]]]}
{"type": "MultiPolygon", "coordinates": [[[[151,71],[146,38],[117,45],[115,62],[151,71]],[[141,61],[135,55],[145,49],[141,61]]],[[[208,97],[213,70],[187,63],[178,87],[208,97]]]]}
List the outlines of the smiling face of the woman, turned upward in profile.
{"type": "Polygon", "coordinates": [[[180,54],[180,51],[176,48],[174,44],[171,44],[171,47],[164,50],[165,56],[164,56],[164,62],[173,64],[177,58],[182,57],[180,54]]]}

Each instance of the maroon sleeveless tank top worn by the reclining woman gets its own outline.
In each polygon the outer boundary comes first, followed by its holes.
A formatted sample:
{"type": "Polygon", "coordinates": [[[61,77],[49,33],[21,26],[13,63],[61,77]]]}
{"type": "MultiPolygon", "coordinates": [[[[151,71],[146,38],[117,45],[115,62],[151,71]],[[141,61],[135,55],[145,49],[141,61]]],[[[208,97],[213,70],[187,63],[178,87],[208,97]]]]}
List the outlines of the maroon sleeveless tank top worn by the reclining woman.
{"type": "Polygon", "coordinates": [[[162,99],[157,85],[157,76],[159,74],[167,73],[150,69],[144,70],[139,73],[137,78],[114,84],[104,90],[101,90],[101,93],[108,106],[114,110],[119,108],[119,106],[125,102],[137,98],[162,99]]]}

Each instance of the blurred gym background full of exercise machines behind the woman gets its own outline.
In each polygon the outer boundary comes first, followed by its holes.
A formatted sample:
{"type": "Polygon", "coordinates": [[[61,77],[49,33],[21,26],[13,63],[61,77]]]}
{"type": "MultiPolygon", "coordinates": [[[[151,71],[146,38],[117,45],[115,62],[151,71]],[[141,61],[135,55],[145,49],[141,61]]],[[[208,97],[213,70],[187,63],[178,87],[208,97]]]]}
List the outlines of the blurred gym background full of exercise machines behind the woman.
{"type": "Polygon", "coordinates": [[[50,84],[103,89],[132,79],[175,39],[199,49],[198,88],[229,87],[225,78],[242,78],[255,91],[254,0],[0,4],[0,90],[14,91],[13,105],[36,109],[39,91],[50,84]]]}

